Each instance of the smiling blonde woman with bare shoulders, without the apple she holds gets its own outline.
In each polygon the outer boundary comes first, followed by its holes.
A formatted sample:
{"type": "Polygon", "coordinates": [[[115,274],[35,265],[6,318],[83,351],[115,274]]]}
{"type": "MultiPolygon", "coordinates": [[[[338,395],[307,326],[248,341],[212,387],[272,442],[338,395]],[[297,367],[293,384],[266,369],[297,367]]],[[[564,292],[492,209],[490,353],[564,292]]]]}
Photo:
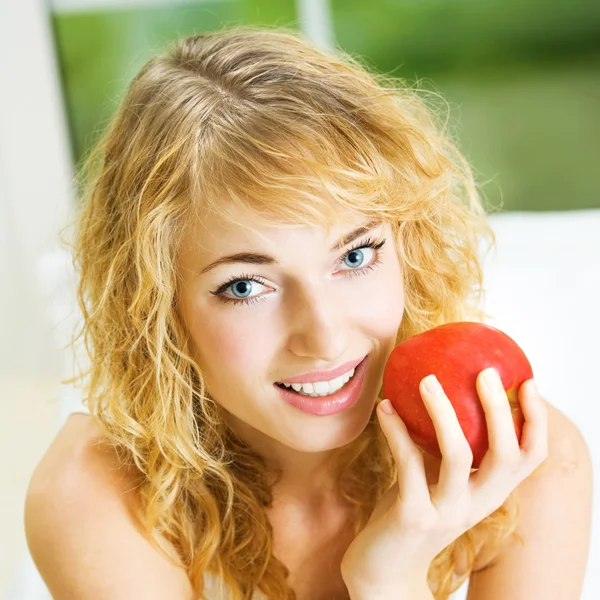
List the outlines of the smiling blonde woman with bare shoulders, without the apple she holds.
{"type": "Polygon", "coordinates": [[[519,447],[480,374],[477,472],[435,378],[441,461],[381,401],[400,341],[483,319],[493,240],[417,92],[290,31],[231,28],[149,61],[91,162],[90,416],[26,503],[55,598],[441,599],[469,576],[470,600],[579,597],[589,453],[533,380],[519,447]]]}

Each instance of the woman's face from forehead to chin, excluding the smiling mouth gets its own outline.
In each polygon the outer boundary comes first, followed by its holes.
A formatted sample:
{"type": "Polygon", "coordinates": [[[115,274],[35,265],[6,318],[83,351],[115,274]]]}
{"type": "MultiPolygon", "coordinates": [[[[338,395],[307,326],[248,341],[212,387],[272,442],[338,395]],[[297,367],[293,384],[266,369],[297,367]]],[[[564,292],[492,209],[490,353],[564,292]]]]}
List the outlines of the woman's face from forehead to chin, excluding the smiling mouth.
{"type": "Polygon", "coordinates": [[[348,444],[367,425],[404,311],[391,228],[375,225],[344,244],[368,219],[336,222],[328,234],[240,217],[260,235],[207,215],[179,257],[181,315],[208,392],[242,439],[304,452],[348,444]],[[246,256],[223,260],[234,254],[246,256]],[[367,355],[358,399],[334,414],[301,410],[276,385],[367,355]]]}

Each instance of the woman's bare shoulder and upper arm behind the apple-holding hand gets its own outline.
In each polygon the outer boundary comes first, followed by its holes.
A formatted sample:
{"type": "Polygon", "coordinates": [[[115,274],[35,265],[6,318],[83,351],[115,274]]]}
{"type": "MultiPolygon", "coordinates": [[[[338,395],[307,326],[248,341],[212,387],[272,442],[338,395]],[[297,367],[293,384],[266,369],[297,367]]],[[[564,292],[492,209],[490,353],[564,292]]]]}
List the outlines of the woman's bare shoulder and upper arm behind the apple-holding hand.
{"type": "Polygon", "coordinates": [[[471,575],[468,600],[581,597],[592,519],[590,452],[577,427],[550,404],[548,434],[546,463],[515,490],[524,543],[511,542],[471,575]]]}

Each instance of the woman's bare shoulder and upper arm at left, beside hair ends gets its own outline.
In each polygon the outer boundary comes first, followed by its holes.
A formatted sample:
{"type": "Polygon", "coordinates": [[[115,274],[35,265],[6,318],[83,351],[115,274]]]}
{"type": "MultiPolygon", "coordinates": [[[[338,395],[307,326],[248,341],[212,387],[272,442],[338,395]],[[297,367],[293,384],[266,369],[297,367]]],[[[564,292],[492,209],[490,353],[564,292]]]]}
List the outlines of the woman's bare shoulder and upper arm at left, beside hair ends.
{"type": "Polygon", "coordinates": [[[192,599],[185,570],[147,539],[135,513],[140,474],[73,414],[37,465],[25,501],[31,556],[53,597],[192,599]]]}

